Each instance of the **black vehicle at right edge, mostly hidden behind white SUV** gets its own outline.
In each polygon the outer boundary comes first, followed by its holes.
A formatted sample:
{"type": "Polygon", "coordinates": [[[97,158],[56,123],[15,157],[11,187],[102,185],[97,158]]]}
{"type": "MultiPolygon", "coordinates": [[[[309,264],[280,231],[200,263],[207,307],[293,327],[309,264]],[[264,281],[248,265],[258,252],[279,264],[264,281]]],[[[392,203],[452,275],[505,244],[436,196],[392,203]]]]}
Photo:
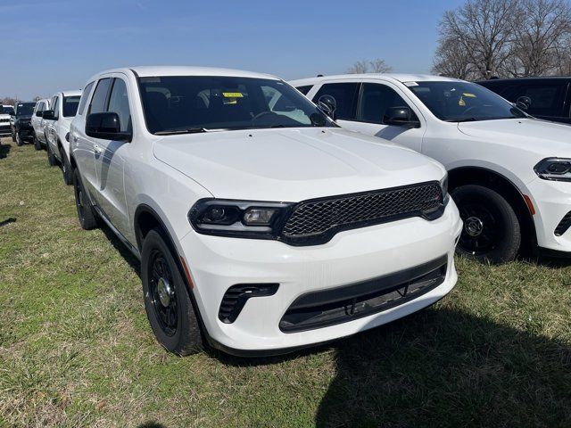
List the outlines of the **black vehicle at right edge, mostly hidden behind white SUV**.
{"type": "Polygon", "coordinates": [[[535,118],[571,123],[571,78],[494,78],[476,82],[535,118]]]}

